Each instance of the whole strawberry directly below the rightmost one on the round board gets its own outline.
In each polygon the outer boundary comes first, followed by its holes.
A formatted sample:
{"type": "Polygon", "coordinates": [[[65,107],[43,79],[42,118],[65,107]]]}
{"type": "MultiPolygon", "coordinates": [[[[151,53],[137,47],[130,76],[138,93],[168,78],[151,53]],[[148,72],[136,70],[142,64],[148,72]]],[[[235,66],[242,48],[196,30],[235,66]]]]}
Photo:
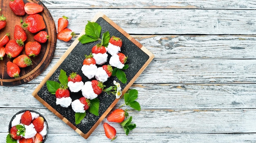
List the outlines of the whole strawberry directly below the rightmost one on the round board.
{"type": "Polygon", "coordinates": [[[26,55],[28,56],[37,56],[40,51],[41,51],[41,44],[38,43],[37,41],[34,41],[34,42],[27,42],[26,45],[25,45],[25,53],[26,55]]]}

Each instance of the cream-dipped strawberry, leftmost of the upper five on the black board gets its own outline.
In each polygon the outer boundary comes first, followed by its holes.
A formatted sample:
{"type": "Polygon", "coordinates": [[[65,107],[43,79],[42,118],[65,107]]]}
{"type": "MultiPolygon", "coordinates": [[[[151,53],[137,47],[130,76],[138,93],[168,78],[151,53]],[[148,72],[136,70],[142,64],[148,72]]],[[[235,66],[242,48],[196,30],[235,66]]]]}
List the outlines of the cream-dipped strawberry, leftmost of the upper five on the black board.
{"type": "Polygon", "coordinates": [[[95,73],[97,72],[97,66],[92,53],[90,55],[85,55],[81,70],[88,79],[94,78],[95,73]]]}

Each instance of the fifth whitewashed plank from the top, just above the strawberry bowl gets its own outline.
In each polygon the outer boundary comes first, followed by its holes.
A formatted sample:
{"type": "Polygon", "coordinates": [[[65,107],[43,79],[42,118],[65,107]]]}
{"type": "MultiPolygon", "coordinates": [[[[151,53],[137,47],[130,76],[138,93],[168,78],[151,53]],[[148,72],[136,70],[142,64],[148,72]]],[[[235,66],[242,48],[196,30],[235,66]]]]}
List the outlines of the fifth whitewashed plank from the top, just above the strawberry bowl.
{"type": "MultiPolygon", "coordinates": [[[[31,93],[38,84],[2,87],[0,108],[45,108],[31,93]],[[19,102],[17,102],[17,97],[19,102]]],[[[133,84],[141,109],[256,108],[255,84],[133,84]],[[155,98],[157,97],[157,98],[155,98]]],[[[115,108],[124,104],[122,98],[115,108]]]]}

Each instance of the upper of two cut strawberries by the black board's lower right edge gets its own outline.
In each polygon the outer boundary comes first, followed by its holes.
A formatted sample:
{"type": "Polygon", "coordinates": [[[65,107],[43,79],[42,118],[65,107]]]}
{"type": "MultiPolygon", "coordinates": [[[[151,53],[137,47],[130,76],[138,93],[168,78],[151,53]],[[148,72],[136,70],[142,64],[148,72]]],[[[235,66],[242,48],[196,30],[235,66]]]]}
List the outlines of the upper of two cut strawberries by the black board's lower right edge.
{"type": "Polygon", "coordinates": [[[124,111],[123,109],[116,109],[113,111],[107,118],[108,121],[121,123],[124,121],[124,118],[128,116],[128,113],[124,111]]]}

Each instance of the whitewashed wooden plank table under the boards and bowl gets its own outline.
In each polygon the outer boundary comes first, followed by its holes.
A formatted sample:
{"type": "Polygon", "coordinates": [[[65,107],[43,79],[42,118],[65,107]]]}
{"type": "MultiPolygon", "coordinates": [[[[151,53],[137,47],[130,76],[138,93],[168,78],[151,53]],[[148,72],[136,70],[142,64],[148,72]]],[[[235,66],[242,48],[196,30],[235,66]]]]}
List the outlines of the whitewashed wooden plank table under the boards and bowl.
{"type": "MultiPolygon", "coordinates": [[[[116,143],[256,143],[256,0],[42,0],[57,26],[79,34],[101,11],[155,58],[132,85],[137,128],[116,143]]],[[[31,93],[73,41],[57,41],[54,59],[25,85],[0,87],[0,143],[11,117],[33,109],[47,119],[45,143],[108,143],[103,122],[85,140],[31,93]]],[[[124,103],[121,99],[115,108],[124,103]]]]}

